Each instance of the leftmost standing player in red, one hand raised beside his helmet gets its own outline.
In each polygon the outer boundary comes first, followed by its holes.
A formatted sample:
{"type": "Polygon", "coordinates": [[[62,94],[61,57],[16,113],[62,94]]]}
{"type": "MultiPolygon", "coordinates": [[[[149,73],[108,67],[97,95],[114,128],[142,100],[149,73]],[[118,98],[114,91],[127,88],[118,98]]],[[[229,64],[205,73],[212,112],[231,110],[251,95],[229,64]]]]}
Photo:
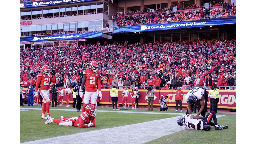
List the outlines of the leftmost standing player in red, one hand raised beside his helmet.
{"type": "Polygon", "coordinates": [[[42,73],[38,73],[37,75],[37,80],[36,80],[36,88],[35,88],[35,97],[38,97],[38,85],[39,83],[41,84],[40,88],[40,94],[44,99],[43,103],[43,112],[41,119],[50,119],[50,94],[49,94],[49,85],[51,82],[55,83],[56,78],[55,78],[55,71],[50,70],[50,68],[47,65],[44,65],[42,67],[42,73]],[[51,75],[53,78],[51,78],[51,75]],[[45,111],[47,112],[47,117],[45,117],[45,111]]]}

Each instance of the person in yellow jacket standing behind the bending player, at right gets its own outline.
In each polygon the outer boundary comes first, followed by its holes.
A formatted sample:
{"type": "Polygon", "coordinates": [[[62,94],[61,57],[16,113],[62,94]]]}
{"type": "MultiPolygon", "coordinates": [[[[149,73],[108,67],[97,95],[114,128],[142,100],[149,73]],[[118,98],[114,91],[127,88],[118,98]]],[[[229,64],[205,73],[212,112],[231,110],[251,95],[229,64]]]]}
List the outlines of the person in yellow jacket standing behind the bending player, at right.
{"type": "Polygon", "coordinates": [[[219,89],[216,86],[213,86],[209,91],[210,95],[210,111],[214,111],[216,113],[216,107],[218,106],[217,98],[219,97],[219,89]]]}

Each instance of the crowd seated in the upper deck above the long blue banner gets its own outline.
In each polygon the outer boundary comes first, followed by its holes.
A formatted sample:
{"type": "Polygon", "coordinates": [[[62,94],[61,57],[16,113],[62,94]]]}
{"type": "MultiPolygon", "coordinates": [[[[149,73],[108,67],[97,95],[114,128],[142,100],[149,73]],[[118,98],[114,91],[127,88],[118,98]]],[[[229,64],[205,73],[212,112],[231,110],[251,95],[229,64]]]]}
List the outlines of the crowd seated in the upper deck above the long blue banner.
{"type": "Polygon", "coordinates": [[[157,9],[156,11],[149,11],[146,8],[142,11],[128,11],[128,13],[116,15],[117,26],[132,26],[142,24],[154,24],[154,23],[168,23],[184,20],[199,20],[208,19],[214,17],[227,17],[236,16],[235,5],[227,5],[225,8],[198,8],[198,10],[187,12],[172,12],[169,8],[157,9]],[[132,14],[131,14],[132,13],[132,14]],[[143,14],[141,14],[143,13],[143,14]]]}

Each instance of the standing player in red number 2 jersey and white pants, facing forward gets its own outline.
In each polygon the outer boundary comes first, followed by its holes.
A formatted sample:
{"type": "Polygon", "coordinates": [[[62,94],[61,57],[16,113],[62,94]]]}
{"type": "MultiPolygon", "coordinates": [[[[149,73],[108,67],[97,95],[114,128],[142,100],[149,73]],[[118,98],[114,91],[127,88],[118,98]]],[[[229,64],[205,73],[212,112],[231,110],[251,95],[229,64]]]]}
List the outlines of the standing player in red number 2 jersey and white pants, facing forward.
{"type": "MultiPolygon", "coordinates": [[[[84,93],[84,105],[82,109],[82,113],[85,112],[85,107],[89,104],[89,100],[91,99],[91,104],[95,106],[97,101],[97,85],[99,88],[99,97],[102,99],[101,94],[101,85],[100,85],[100,72],[98,71],[98,63],[96,61],[92,61],[90,63],[90,69],[83,71],[83,80],[81,84],[81,88],[86,84],[85,93],[84,93]]],[[[80,90],[80,97],[83,96],[83,90],[80,90]]]]}

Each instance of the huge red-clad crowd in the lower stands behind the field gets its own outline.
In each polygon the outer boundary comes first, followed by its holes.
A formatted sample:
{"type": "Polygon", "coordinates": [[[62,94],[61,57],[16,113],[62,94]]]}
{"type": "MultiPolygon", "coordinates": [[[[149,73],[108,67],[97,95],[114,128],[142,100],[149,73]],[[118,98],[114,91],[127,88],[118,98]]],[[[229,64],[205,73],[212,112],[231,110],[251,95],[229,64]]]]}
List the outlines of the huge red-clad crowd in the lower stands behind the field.
{"type": "Polygon", "coordinates": [[[99,63],[103,88],[235,86],[236,40],[23,47],[20,82],[23,87],[35,85],[37,73],[43,65],[48,65],[56,72],[57,86],[74,87],[91,61],[99,63]]]}

